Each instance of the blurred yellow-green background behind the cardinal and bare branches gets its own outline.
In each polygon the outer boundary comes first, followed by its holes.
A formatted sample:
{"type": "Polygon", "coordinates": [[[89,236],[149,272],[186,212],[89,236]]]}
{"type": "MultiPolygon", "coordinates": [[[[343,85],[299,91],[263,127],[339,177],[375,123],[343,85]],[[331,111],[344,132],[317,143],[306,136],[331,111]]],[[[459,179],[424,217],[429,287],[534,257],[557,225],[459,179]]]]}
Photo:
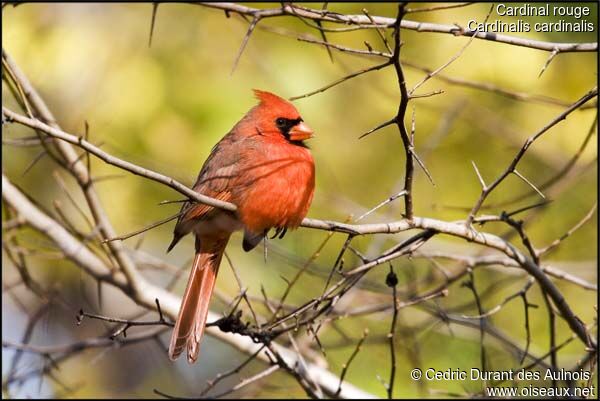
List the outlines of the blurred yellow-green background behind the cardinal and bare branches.
{"type": "MultiPolygon", "coordinates": [[[[592,16],[587,20],[593,22],[597,29],[597,5],[587,5],[592,9],[592,16]]],[[[321,4],[308,6],[319,8],[321,4]]],[[[361,14],[364,7],[371,15],[394,17],[396,13],[394,4],[383,3],[330,3],[328,7],[332,11],[350,14],[361,14]]],[[[411,14],[407,19],[466,26],[471,19],[483,21],[489,8],[489,4],[475,4],[411,14]]],[[[310,33],[319,38],[318,31],[294,17],[261,21],[237,69],[231,74],[248,24],[234,14],[226,18],[219,10],[190,4],[160,5],[151,47],[148,47],[151,4],[25,4],[3,7],[2,13],[3,48],[40,91],[64,130],[83,134],[87,121],[91,141],[101,144],[105,151],[188,185],[193,184],[212,146],[255,104],[252,88],[291,97],[382,61],[333,51],[334,62],[331,62],[321,46],[263,29],[278,27],[290,32],[310,33]]],[[[493,13],[490,18],[500,17],[493,13]]],[[[503,17],[502,20],[515,21],[511,17],[503,17]]],[[[558,18],[525,20],[533,23],[558,18]]],[[[597,32],[514,35],[556,42],[592,42],[596,40],[597,32]]],[[[365,49],[364,41],[368,41],[374,48],[383,50],[374,30],[328,33],[328,39],[332,43],[359,49],[365,49]]],[[[469,39],[403,30],[402,40],[403,59],[435,69],[456,54],[469,39]]],[[[464,54],[444,70],[443,75],[485,82],[515,92],[545,95],[567,103],[577,100],[595,85],[598,71],[595,52],[560,54],[538,77],[548,55],[543,51],[474,40],[464,54]]],[[[408,67],[405,67],[405,72],[409,88],[424,76],[423,72],[408,67]]],[[[409,116],[415,107],[417,152],[423,157],[436,184],[432,186],[423,172],[416,169],[415,214],[443,220],[464,219],[480,192],[471,161],[475,161],[484,179],[491,182],[506,168],[526,138],[557,116],[564,107],[515,101],[486,91],[450,85],[435,78],[417,93],[438,89],[444,93],[416,99],[409,106],[409,116]]],[[[387,68],[295,102],[304,120],[316,132],[316,138],[309,144],[317,166],[317,189],[309,217],[344,221],[350,215],[361,215],[402,188],[404,151],[397,129],[388,127],[358,140],[362,133],[396,113],[398,96],[394,71],[387,68]]],[[[17,110],[4,84],[2,101],[5,106],[17,110]]],[[[537,184],[555,175],[577,151],[595,115],[595,108],[573,113],[532,146],[519,171],[537,184]]],[[[407,124],[410,124],[410,117],[407,124]]],[[[10,125],[3,127],[2,135],[3,139],[18,138],[30,136],[32,132],[10,125]]],[[[552,203],[543,210],[520,215],[527,218],[530,213],[536,214],[526,225],[535,246],[543,247],[560,237],[596,202],[595,142],[593,138],[575,166],[577,173],[548,190],[546,195],[552,203]]],[[[38,152],[39,148],[3,145],[4,173],[47,210],[53,209],[54,200],[61,201],[77,226],[85,229],[84,221],[66,200],[54,174],[63,177],[81,205],[85,205],[83,197],[74,182],[49,158],[42,158],[23,174],[38,152]]],[[[92,160],[92,171],[94,176],[106,178],[98,181],[97,190],[119,233],[165,218],[179,208],[177,204],[158,205],[163,200],[181,198],[181,195],[161,185],[124,173],[98,160],[92,160]]],[[[493,205],[528,191],[525,183],[510,177],[486,204],[493,205]]],[[[483,213],[498,214],[502,210],[515,210],[538,201],[535,196],[529,197],[506,209],[497,207],[483,210],[483,213]]],[[[403,201],[397,200],[370,215],[364,222],[398,220],[402,210],[403,201]]],[[[188,237],[166,255],[172,228],[173,223],[170,223],[146,233],[141,249],[176,266],[183,266],[192,255],[193,242],[188,237]]],[[[497,234],[507,231],[504,225],[486,225],[483,229],[497,234]]],[[[361,237],[353,244],[367,256],[375,256],[407,235],[361,237]]],[[[273,250],[265,263],[261,247],[249,254],[241,250],[241,235],[238,233],[228,246],[228,254],[238,267],[249,294],[260,297],[260,286],[263,285],[269,296],[278,297],[285,289],[280,275],[291,278],[296,274],[298,267],[315,252],[326,236],[325,232],[308,229],[288,233],[283,240],[272,244],[273,250]]],[[[20,238],[25,247],[52,251],[51,244],[41,236],[26,231],[20,238]]],[[[133,247],[138,240],[132,238],[127,243],[133,247]]],[[[289,303],[300,305],[320,294],[324,285],[323,274],[327,274],[344,240],[344,235],[333,236],[316,259],[313,274],[303,276],[299,286],[290,294],[289,303]]],[[[597,218],[594,216],[544,262],[595,283],[596,243],[597,218]]],[[[436,237],[426,249],[460,254],[473,254],[480,250],[448,237],[436,237]]],[[[28,260],[32,274],[44,285],[58,289],[72,301],[75,309],[83,307],[93,311],[97,308],[95,283],[76,267],[42,254],[33,254],[28,260]]],[[[359,260],[348,254],[345,263],[350,267],[357,265],[359,260]]],[[[448,270],[457,268],[447,261],[441,263],[448,270]]],[[[4,255],[3,266],[3,283],[6,283],[13,280],[16,273],[4,255]]],[[[408,285],[431,273],[433,267],[430,262],[403,259],[396,261],[394,266],[400,275],[404,293],[411,290],[420,293],[433,287],[427,283],[416,289],[414,285],[408,285]]],[[[365,283],[371,284],[366,285],[369,287],[366,289],[370,290],[353,291],[348,295],[347,305],[389,301],[390,290],[383,283],[387,269],[382,266],[382,269],[369,273],[365,283]]],[[[524,276],[508,273],[506,268],[478,268],[475,271],[480,292],[495,288],[484,298],[486,309],[492,308],[525,283],[524,276]],[[506,277],[512,277],[508,284],[502,281],[506,277]],[[503,283],[501,287],[500,282],[503,283]]],[[[157,283],[166,284],[170,279],[168,272],[149,271],[148,275],[157,283]]],[[[175,288],[178,293],[184,289],[187,273],[184,276],[175,288]]],[[[592,322],[596,315],[596,292],[561,281],[557,284],[578,316],[586,323],[592,322]]],[[[230,297],[237,291],[225,261],[217,288],[230,297]]],[[[136,310],[133,304],[124,302],[125,298],[117,291],[111,288],[103,291],[103,314],[127,316],[136,310]]],[[[15,290],[14,294],[31,309],[38,302],[23,288],[15,290]]],[[[542,355],[548,349],[547,314],[539,289],[534,286],[530,294],[530,300],[540,305],[540,308],[532,310],[530,350],[542,355]]],[[[437,305],[445,309],[467,303],[470,305],[459,313],[475,315],[477,309],[472,301],[471,292],[461,287],[459,282],[450,287],[449,296],[437,305]]],[[[213,309],[225,311],[226,304],[215,298],[213,309]]],[[[3,340],[19,341],[26,316],[14,299],[6,294],[3,295],[2,310],[3,340]]],[[[525,345],[522,310],[522,304],[513,301],[490,319],[494,326],[515,339],[520,346],[525,345]]],[[[423,367],[469,369],[479,364],[477,330],[456,325],[449,328],[440,323],[411,331],[411,328],[419,327],[430,319],[427,316],[419,308],[405,308],[400,312],[397,397],[428,394],[426,389],[411,381],[408,374],[415,366],[415,353],[423,367]]],[[[366,391],[384,396],[385,389],[377,376],[387,380],[389,374],[385,342],[389,321],[389,313],[342,320],[339,322],[340,330],[352,340],[350,342],[343,341],[344,336],[332,328],[324,330],[320,340],[327,351],[329,369],[336,374],[341,372],[363,329],[368,327],[371,334],[365,350],[358,354],[346,378],[366,391]]],[[[560,318],[557,325],[558,342],[570,337],[571,332],[560,318]]],[[[104,329],[103,324],[90,320],[78,327],[74,315],[60,308],[51,308],[31,342],[62,344],[98,336],[104,329]]],[[[299,335],[302,336],[302,333],[299,335]]],[[[228,345],[207,337],[198,364],[188,366],[184,360],[173,364],[164,350],[168,335],[163,335],[162,340],[162,347],[148,342],[122,349],[90,350],[71,359],[57,374],[73,391],[67,392],[60,384],[46,378],[29,380],[9,394],[19,397],[61,394],[71,397],[152,397],[152,389],[158,388],[167,393],[193,396],[199,393],[206,380],[245,358],[228,345]]],[[[486,345],[491,368],[500,370],[519,366],[518,360],[507,354],[497,342],[490,339],[486,345]]],[[[583,355],[582,349],[581,344],[574,341],[561,350],[560,366],[574,365],[583,355]]],[[[11,355],[12,351],[3,349],[3,375],[11,355]]],[[[35,355],[26,355],[22,363],[33,367],[44,362],[35,355]]],[[[262,367],[259,363],[250,365],[244,376],[258,372],[262,367]]],[[[481,390],[480,382],[430,382],[425,385],[427,389],[450,392],[481,390]]],[[[304,392],[288,375],[276,372],[237,395],[295,398],[303,397],[304,392]]]]}

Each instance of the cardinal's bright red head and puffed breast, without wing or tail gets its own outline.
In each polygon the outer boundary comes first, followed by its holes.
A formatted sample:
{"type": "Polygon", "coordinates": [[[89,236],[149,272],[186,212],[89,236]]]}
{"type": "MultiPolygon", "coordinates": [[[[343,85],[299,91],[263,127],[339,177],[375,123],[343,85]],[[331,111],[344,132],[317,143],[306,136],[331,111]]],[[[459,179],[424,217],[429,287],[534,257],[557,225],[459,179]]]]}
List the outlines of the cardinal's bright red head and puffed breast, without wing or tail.
{"type": "Polygon", "coordinates": [[[250,231],[296,228],[313,198],[315,167],[310,150],[301,140],[294,141],[294,132],[300,129],[312,136],[312,131],[292,104],[268,92],[255,92],[260,104],[233,130],[245,138],[245,145],[232,202],[250,231]]]}

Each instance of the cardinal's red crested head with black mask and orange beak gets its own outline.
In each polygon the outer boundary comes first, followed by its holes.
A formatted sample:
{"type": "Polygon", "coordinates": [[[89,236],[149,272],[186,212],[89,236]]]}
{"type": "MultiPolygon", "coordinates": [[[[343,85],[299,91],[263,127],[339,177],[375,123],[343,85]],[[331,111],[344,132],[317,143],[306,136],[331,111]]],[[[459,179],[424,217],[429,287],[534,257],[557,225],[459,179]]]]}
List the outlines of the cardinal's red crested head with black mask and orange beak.
{"type": "Polygon", "coordinates": [[[313,137],[313,130],[293,104],[271,92],[254,89],[254,94],[260,101],[253,111],[261,135],[284,138],[296,144],[313,137]]]}

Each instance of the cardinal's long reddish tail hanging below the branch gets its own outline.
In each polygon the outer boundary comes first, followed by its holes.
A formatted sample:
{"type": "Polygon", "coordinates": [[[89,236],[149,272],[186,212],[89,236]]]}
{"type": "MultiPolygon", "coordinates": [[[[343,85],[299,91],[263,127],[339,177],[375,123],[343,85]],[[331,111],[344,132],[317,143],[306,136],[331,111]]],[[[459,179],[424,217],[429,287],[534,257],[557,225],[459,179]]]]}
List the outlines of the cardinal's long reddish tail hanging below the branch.
{"type": "Polygon", "coordinates": [[[171,335],[169,345],[171,360],[177,359],[186,346],[188,362],[194,363],[198,359],[210,297],[228,240],[229,236],[202,237],[197,241],[192,272],[171,335]]]}

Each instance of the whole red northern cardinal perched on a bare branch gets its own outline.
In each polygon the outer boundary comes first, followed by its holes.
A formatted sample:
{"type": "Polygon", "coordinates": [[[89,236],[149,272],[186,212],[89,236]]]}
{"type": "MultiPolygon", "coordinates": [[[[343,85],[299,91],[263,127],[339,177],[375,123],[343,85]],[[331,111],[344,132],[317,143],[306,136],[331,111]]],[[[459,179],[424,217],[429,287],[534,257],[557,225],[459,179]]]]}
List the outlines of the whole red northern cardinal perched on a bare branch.
{"type": "Polygon", "coordinates": [[[173,231],[170,251],[193,232],[196,256],[169,345],[175,360],[187,347],[198,358],[208,305],[225,246],[244,230],[243,249],[250,251],[276,228],[280,237],[306,216],[315,187],[315,165],[304,140],[313,131],[296,108],[270,92],[254,90],[259,104],[225,135],[204,162],[193,189],[231,202],[237,212],[186,202],[173,231]]]}

